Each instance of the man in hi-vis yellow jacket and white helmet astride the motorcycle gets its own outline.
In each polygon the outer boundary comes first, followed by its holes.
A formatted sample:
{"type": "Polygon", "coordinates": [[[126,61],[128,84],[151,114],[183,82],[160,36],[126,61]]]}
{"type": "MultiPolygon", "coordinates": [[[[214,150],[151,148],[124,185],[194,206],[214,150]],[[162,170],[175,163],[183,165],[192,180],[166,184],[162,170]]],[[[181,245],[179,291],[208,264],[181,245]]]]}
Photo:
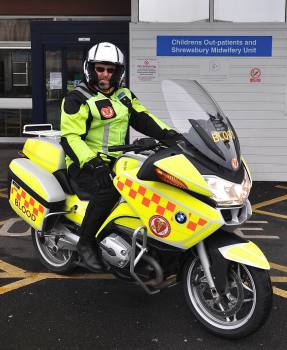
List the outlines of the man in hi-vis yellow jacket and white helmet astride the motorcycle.
{"type": "Polygon", "coordinates": [[[178,133],[152,115],[137,97],[121,87],[124,55],[107,42],[94,45],[84,62],[84,80],[62,103],[61,144],[69,177],[90,194],[80,228],[79,255],[94,270],[103,268],[95,234],[119,199],[112,183],[117,153],[108,146],[124,144],[129,126],[158,140],[178,133]]]}

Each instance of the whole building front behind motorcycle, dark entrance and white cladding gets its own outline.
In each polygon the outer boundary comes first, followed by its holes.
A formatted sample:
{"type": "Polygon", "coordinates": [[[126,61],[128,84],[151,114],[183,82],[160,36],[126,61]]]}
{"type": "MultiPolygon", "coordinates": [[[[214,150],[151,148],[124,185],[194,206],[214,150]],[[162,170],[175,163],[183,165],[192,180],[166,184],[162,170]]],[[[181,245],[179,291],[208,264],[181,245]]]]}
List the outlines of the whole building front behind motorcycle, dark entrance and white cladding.
{"type": "Polygon", "coordinates": [[[126,54],[126,84],[155,115],[169,121],[162,80],[197,80],[232,121],[253,178],[287,181],[285,16],[281,23],[232,23],[224,14],[223,22],[214,19],[216,1],[205,0],[197,22],[186,23],[149,20],[144,0],[1,3],[0,140],[21,136],[26,123],[57,128],[88,48],[106,40],[126,54]]]}

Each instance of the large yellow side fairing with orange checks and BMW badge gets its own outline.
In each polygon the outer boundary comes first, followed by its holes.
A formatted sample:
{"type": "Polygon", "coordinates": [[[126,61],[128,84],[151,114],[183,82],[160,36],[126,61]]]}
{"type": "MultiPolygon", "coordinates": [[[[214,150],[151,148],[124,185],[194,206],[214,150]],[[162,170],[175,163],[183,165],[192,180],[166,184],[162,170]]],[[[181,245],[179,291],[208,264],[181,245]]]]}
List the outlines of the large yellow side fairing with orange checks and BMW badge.
{"type": "Polygon", "coordinates": [[[170,185],[139,180],[138,170],[117,175],[114,184],[153,238],[188,249],[222,226],[216,209],[170,185]],[[178,213],[186,221],[178,223],[178,213]]]}

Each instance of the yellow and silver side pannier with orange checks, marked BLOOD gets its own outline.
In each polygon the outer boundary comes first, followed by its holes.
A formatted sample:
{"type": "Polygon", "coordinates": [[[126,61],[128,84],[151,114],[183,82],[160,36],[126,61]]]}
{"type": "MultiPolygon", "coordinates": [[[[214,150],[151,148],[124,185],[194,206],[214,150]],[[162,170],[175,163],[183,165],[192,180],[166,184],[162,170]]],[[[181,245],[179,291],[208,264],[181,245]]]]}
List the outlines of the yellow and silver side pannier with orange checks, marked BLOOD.
{"type": "Polygon", "coordinates": [[[24,221],[41,231],[46,215],[64,206],[62,187],[53,174],[29,159],[14,159],[9,168],[10,205],[24,221]]]}

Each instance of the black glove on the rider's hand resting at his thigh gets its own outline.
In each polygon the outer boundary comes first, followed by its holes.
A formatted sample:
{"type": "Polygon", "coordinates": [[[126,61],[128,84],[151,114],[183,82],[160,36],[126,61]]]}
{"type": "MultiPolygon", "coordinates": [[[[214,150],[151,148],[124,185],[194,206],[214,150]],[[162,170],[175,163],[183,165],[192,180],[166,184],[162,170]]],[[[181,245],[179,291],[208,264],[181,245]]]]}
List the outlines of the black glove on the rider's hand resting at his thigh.
{"type": "Polygon", "coordinates": [[[84,169],[93,174],[93,181],[99,189],[107,189],[113,185],[113,173],[108,165],[100,157],[89,160],[84,169]]]}

